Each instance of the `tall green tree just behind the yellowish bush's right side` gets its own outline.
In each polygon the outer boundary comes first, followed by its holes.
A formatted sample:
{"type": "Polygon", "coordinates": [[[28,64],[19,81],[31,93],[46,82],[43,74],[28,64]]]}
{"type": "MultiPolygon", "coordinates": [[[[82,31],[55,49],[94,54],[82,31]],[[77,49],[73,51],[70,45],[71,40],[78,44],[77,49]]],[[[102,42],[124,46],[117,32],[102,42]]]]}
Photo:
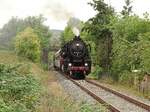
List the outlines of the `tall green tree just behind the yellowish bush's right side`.
{"type": "Polygon", "coordinates": [[[49,27],[43,24],[45,20],[46,19],[42,15],[29,16],[25,18],[24,22],[26,27],[31,27],[38,35],[41,45],[41,61],[44,64],[48,64],[48,51],[51,32],[49,27]]]}

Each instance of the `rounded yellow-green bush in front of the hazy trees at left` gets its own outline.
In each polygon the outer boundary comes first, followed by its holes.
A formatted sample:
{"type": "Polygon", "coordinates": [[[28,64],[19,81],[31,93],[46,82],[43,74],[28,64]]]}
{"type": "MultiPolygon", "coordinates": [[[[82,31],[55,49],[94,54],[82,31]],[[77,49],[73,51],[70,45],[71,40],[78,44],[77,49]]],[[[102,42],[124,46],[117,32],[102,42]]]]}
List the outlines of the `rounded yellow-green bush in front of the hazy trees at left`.
{"type": "Polygon", "coordinates": [[[32,61],[39,61],[40,41],[32,28],[26,28],[16,36],[15,51],[32,61]]]}

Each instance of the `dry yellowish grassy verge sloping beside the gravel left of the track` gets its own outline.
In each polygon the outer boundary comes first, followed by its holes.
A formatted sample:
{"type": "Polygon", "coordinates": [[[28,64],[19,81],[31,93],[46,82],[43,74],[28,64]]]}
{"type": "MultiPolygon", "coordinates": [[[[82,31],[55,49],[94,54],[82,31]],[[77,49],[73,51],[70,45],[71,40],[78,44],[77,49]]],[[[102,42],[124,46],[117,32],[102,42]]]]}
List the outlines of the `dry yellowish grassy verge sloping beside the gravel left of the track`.
{"type": "MultiPolygon", "coordinates": [[[[39,82],[40,91],[37,91],[37,94],[40,94],[40,99],[37,100],[38,102],[34,105],[35,109],[30,110],[31,112],[107,112],[106,109],[99,104],[89,105],[85,102],[75,102],[59,85],[53,71],[44,71],[39,64],[18,57],[13,52],[0,51],[0,63],[7,65],[16,65],[19,63],[22,65],[19,69],[20,73],[31,73],[34,79],[39,82]]],[[[0,102],[4,103],[3,100],[0,100],[0,102]]],[[[0,112],[5,111],[0,109],[0,112]]]]}

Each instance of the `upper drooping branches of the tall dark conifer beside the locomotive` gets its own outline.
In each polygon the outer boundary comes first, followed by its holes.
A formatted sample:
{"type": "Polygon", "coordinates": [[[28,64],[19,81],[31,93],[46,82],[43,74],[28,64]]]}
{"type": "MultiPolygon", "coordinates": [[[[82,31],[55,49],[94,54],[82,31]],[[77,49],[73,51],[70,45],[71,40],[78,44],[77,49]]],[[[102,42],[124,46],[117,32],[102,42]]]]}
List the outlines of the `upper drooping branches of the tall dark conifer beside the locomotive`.
{"type": "Polygon", "coordinates": [[[105,38],[105,36],[110,33],[106,25],[110,22],[113,9],[104,3],[103,0],[93,0],[93,2],[89,4],[98,13],[95,17],[86,22],[84,29],[97,39],[105,38]]]}

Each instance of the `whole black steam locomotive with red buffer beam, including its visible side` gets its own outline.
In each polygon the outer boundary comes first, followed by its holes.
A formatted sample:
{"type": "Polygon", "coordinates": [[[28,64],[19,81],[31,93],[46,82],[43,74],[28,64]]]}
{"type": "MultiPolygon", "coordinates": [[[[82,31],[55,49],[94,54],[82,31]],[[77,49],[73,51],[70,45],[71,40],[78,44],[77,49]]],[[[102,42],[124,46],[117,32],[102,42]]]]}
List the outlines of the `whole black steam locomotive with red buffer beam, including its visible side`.
{"type": "Polygon", "coordinates": [[[75,36],[55,53],[54,68],[59,68],[73,78],[85,78],[91,72],[90,51],[90,45],[86,44],[80,36],[75,36]]]}

